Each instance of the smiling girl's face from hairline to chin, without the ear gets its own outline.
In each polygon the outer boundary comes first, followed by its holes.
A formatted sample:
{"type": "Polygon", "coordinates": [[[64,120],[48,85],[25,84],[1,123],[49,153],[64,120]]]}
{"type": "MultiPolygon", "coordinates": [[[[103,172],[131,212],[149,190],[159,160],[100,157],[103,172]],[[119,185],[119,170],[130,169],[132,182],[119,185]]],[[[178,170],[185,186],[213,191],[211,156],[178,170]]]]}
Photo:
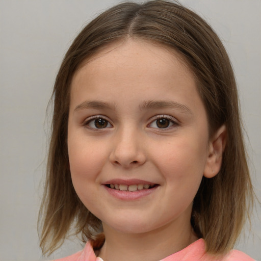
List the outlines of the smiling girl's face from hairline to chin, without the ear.
{"type": "Polygon", "coordinates": [[[190,226],[208,157],[192,73],[148,42],[103,50],[74,75],[68,152],[75,191],[103,226],[134,233],[190,226]]]}

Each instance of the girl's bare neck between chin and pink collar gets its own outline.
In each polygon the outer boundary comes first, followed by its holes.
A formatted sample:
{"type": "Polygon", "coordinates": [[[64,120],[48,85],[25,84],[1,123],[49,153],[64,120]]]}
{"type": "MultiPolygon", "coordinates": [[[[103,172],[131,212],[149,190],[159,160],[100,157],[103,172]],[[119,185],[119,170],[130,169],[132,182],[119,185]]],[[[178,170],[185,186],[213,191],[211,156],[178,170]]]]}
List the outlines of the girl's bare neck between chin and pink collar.
{"type": "Polygon", "coordinates": [[[123,233],[103,224],[105,244],[99,256],[104,261],[160,260],[197,240],[191,225],[167,224],[147,233],[123,233]]]}

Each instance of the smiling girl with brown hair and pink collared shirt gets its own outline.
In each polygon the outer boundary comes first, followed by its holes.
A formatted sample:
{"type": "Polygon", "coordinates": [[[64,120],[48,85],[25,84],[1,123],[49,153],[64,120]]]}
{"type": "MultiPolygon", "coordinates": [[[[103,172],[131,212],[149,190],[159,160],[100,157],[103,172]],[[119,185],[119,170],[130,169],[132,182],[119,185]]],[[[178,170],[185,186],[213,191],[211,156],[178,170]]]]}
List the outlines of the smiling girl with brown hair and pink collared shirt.
{"type": "Polygon", "coordinates": [[[253,202],[238,94],[210,26],[167,1],[123,3],[70,46],[54,87],[40,215],[60,260],[253,260],[231,250],[253,202]]]}

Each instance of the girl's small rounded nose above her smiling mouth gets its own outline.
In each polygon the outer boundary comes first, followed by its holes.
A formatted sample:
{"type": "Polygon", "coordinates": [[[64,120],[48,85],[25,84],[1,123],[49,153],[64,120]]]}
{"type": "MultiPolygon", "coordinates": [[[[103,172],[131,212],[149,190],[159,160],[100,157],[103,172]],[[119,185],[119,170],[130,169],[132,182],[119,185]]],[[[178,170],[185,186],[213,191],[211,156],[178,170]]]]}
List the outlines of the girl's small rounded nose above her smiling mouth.
{"type": "Polygon", "coordinates": [[[133,168],[145,163],[144,142],[137,131],[122,130],[116,133],[113,139],[113,148],[110,154],[110,162],[113,165],[133,168]]]}

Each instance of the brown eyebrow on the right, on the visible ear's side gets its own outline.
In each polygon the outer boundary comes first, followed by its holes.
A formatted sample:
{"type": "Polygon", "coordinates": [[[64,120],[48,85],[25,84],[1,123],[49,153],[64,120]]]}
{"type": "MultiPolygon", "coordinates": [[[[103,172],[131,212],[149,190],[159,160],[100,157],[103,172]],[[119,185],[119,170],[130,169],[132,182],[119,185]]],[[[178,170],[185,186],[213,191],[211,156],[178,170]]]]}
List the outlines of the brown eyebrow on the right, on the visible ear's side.
{"type": "Polygon", "coordinates": [[[172,100],[148,100],[140,105],[140,110],[144,109],[160,109],[160,108],[173,108],[181,111],[182,113],[192,114],[192,111],[184,104],[172,100]]]}

